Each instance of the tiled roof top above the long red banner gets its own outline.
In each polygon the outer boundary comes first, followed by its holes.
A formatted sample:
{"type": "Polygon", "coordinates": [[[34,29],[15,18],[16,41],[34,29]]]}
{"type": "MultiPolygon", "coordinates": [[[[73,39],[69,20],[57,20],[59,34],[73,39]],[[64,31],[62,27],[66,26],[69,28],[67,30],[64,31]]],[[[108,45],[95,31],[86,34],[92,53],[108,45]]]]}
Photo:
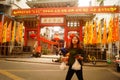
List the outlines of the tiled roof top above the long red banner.
{"type": "Polygon", "coordinates": [[[31,8],[73,7],[78,0],[29,0],[26,3],[31,8]]]}

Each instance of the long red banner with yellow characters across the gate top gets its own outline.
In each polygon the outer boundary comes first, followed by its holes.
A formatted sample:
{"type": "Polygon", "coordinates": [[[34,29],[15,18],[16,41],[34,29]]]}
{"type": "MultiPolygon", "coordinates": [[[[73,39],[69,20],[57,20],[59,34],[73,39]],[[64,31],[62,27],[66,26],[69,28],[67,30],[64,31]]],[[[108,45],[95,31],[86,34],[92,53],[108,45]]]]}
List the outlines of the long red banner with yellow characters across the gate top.
{"type": "Polygon", "coordinates": [[[118,6],[14,9],[12,15],[66,15],[80,13],[119,13],[118,6]]]}

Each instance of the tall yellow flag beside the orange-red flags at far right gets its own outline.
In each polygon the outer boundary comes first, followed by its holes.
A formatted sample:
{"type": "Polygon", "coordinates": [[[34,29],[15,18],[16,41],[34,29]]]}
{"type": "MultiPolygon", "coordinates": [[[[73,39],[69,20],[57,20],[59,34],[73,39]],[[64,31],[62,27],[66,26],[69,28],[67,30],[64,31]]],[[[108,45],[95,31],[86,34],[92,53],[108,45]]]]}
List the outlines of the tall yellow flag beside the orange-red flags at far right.
{"type": "Polygon", "coordinates": [[[113,18],[111,17],[108,26],[108,38],[107,38],[108,43],[112,42],[112,28],[113,28],[113,18]]]}

